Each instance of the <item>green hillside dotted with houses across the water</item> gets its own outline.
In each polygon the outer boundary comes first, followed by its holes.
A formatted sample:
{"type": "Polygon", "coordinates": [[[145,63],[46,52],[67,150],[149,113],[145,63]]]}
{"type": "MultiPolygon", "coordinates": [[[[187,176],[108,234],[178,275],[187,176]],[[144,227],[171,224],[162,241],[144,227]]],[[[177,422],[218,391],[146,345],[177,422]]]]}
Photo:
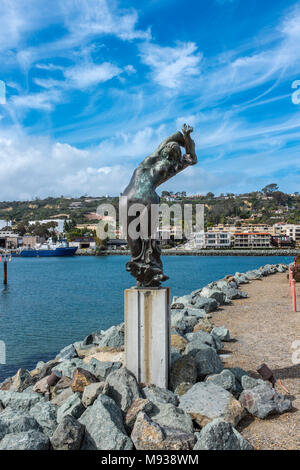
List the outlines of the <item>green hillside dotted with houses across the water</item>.
{"type": "MultiPolygon", "coordinates": [[[[112,203],[118,208],[119,199],[107,197],[80,198],[48,197],[33,201],[0,202],[0,219],[13,224],[28,220],[70,218],[76,224],[92,223],[93,215],[101,203],[112,203]]],[[[161,202],[169,205],[204,204],[207,225],[218,223],[265,223],[282,221],[300,224],[300,196],[298,193],[285,194],[276,184],[270,184],[261,191],[246,194],[221,194],[187,196],[185,192],[162,192],[161,202]]],[[[96,220],[95,220],[96,221],[96,220]]]]}

